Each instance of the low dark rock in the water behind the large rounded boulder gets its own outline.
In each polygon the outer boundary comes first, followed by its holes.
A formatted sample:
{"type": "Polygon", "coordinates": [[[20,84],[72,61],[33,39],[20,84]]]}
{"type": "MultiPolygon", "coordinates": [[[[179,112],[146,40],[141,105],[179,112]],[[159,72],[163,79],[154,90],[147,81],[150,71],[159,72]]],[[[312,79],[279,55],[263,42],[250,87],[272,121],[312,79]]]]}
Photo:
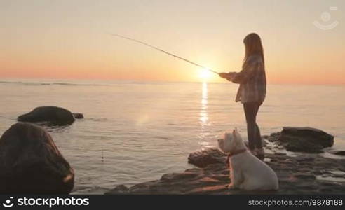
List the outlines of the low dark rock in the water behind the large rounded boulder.
{"type": "Polygon", "coordinates": [[[40,106],[18,117],[20,122],[45,122],[51,125],[71,125],[74,120],[70,111],[57,106],[40,106]]]}

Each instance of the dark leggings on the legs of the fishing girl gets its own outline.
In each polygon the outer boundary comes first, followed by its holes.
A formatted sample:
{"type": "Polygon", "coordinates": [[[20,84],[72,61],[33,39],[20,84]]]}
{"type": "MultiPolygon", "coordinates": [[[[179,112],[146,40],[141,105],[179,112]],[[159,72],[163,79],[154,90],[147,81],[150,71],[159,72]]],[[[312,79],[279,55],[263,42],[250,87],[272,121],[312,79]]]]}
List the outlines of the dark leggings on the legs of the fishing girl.
{"type": "Polygon", "coordinates": [[[261,134],[257,125],[257,111],[262,102],[246,102],[243,103],[245,111],[245,120],[247,121],[248,147],[250,150],[254,148],[262,148],[261,134]]]}

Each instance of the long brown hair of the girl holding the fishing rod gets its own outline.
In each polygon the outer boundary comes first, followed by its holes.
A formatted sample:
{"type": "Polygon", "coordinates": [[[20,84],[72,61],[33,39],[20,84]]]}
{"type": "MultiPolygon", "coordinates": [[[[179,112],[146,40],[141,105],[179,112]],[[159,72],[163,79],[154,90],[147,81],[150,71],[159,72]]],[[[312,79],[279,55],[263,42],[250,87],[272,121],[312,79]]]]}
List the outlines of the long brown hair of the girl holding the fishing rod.
{"type": "Polygon", "coordinates": [[[255,33],[248,34],[243,39],[245,44],[245,58],[243,63],[245,63],[251,55],[259,55],[262,57],[262,62],[265,63],[264,59],[264,48],[262,48],[261,38],[255,33]]]}

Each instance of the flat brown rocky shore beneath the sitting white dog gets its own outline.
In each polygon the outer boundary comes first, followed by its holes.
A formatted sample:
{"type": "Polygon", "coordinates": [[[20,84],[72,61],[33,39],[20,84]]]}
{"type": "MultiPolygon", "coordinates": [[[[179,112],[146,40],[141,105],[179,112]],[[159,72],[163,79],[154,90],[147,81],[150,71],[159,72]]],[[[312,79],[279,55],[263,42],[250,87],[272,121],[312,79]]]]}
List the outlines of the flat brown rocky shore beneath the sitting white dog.
{"type": "MultiPolygon", "coordinates": [[[[322,158],[314,154],[290,157],[285,153],[266,154],[266,163],[279,179],[278,191],[228,190],[230,183],[226,156],[212,149],[192,156],[197,160],[214,160],[202,168],[163,174],[161,179],[138,183],[131,187],[116,186],[106,194],[345,194],[345,160],[322,158]],[[220,160],[222,159],[222,160],[220,160]],[[335,181],[332,181],[334,179],[335,181]]],[[[200,165],[200,163],[197,163],[200,165]]]]}

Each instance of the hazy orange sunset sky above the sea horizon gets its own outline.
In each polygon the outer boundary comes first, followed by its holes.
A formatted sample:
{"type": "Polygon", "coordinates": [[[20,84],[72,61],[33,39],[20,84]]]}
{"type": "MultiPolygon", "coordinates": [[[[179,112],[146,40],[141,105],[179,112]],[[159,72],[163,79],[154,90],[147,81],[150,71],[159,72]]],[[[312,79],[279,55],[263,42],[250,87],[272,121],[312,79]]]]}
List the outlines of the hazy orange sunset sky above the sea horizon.
{"type": "Polygon", "coordinates": [[[344,0],[1,0],[0,79],[201,81],[201,68],[107,33],[239,71],[255,31],[269,83],[345,85],[344,10],[344,0]]]}

